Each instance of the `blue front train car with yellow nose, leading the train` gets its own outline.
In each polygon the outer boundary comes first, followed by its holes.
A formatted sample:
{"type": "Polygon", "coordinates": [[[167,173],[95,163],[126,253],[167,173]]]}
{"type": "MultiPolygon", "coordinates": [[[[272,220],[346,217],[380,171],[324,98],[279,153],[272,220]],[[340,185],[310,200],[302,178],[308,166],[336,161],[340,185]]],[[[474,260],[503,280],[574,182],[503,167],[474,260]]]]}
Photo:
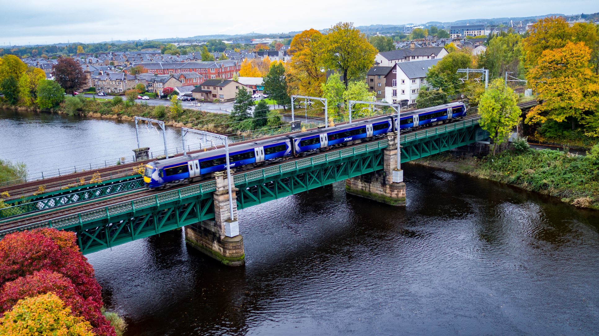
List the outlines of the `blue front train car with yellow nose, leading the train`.
{"type": "MultiPolygon", "coordinates": [[[[287,137],[233,145],[229,146],[229,163],[234,171],[253,168],[283,161],[291,157],[291,150],[287,137]]],[[[147,164],[144,182],[148,188],[168,187],[214,176],[225,167],[225,148],[219,148],[147,164]]]]}

